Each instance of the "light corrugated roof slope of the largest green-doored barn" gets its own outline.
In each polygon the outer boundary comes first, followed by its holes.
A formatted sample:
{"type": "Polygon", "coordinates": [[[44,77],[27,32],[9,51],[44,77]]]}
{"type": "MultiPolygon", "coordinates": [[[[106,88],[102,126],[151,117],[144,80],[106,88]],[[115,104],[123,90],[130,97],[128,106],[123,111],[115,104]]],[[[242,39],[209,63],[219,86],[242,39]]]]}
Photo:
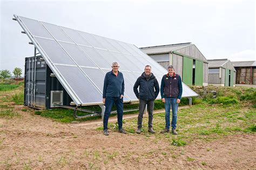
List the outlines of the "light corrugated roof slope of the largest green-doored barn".
{"type": "Polygon", "coordinates": [[[170,53],[180,48],[191,46],[191,42],[181,43],[181,44],[171,44],[171,45],[161,45],[152,47],[142,47],[140,48],[146,54],[163,54],[170,53]]]}

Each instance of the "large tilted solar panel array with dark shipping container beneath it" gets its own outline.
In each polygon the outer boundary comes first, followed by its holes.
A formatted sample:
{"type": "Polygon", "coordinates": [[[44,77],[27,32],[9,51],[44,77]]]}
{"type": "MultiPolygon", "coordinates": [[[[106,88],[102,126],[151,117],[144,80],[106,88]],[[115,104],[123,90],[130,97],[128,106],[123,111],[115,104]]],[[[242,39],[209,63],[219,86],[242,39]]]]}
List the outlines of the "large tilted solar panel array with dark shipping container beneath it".
{"type": "MultiPolygon", "coordinates": [[[[117,61],[124,75],[124,103],[138,102],[133,84],[151,65],[158,81],[166,69],[132,44],[66,27],[14,15],[34,47],[34,56],[25,59],[24,104],[32,108],[73,108],[99,105],[104,77],[117,61]],[[38,53],[37,53],[38,52],[38,53]],[[136,63],[136,64],[134,64],[136,63]]],[[[198,96],[183,84],[182,97],[198,96]]],[[[160,94],[157,96],[160,99],[160,94]]],[[[92,111],[92,113],[95,113],[92,111]]]]}

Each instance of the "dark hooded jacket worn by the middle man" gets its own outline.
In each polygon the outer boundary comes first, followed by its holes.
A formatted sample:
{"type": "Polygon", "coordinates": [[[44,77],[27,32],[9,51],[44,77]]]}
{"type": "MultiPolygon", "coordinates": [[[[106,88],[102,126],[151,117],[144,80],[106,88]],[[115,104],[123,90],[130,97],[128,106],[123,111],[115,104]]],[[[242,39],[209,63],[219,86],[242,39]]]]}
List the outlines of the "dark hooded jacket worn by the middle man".
{"type": "Polygon", "coordinates": [[[144,73],[142,73],[135,82],[133,91],[139,99],[146,101],[155,100],[159,94],[159,84],[154,74],[152,73],[149,81],[147,81],[146,77],[144,77],[144,73]]]}

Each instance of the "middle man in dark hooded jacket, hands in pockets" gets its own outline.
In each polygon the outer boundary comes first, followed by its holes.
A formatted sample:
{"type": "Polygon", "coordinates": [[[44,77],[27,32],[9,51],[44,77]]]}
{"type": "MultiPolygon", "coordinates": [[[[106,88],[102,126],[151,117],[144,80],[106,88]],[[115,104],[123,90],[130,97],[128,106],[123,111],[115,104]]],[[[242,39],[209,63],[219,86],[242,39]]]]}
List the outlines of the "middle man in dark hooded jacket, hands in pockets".
{"type": "Polygon", "coordinates": [[[142,119],[143,112],[145,110],[146,104],[149,108],[149,132],[154,133],[152,128],[153,121],[153,109],[154,109],[154,100],[156,100],[159,94],[159,84],[154,76],[151,73],[151,66],[147,65],[144,69],[144,72],[141,76],[138,77],[137,81],[133,86],[133,91],[137,98],[139,99],[139,116],[138,116],[138,130],[136,133],[140,133],[142,129],[142,119]],[[139,87],[139,91],[138,91],[139,87]]]}

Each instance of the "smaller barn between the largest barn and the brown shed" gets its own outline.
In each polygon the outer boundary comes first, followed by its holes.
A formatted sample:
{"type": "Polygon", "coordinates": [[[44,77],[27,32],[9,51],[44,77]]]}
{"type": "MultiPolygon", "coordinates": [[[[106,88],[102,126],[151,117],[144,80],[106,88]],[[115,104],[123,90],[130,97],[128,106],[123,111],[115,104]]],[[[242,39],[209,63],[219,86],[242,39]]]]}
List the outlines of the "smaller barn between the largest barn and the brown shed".
{"type": "Polygon", "coordinates": [[[235,84],[235,68],[230,60],[208,60],[208,84],[214,86],[231,86],[235,84]]]}

